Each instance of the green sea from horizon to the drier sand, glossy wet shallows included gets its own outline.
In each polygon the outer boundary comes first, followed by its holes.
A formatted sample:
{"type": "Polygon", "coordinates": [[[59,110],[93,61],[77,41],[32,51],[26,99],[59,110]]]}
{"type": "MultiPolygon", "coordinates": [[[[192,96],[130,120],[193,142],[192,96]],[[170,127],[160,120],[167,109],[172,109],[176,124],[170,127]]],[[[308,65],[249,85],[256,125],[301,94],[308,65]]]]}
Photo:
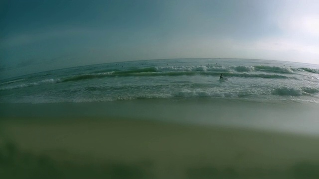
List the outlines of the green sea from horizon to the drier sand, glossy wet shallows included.
{"type": "Polygon", "coordinates": [[[319,135],[319,65],[169,59],[81,66],[2,80],[0,105],[3,117],[112,116],[319,135]]]}

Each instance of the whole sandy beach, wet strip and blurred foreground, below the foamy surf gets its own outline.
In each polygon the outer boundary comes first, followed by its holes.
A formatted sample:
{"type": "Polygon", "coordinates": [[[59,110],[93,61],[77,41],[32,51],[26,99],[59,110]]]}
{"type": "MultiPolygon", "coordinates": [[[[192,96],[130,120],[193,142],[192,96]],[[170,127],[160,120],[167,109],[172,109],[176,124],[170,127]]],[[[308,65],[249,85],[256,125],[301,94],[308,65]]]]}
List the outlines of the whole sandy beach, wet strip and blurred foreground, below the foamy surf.
{"type": "Polygon", "coordinates": [[[6,178],[319,178],[318,105],[139,99],[0,110],[6,178]]]}

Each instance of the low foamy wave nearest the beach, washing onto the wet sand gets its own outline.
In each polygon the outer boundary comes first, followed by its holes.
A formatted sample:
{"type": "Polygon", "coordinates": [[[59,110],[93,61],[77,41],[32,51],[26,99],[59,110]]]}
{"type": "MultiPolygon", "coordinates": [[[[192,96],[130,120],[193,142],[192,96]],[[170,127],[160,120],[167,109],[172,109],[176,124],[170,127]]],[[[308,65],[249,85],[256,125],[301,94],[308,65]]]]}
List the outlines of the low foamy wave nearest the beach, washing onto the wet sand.
{"type": "MultiPolygon", "coordinates": [[[[253,89],[225,89],[215,88],[203,84],[161,84],[161,85],[120,85],[108,87],[84,87],[83,89],[68,89],[63,95],[48,97],[45,94],[14,98],[14,102],[56,103],[56,102],[103,102],[133,99],[185,99],[185,98],[247,98],[253,100],[272,99],[272,95],[285,96],[311,96],[319,98],[316,94],[319,88],[312,87],[278,87],[253,89]],[[86,91],[83,93],[83,91],[86,91]],[[129,92],[128,92],[129,91],[129,92]],[[101,95],[102,94],[102,95],[101,95]],[[65,97],[68,96],[68,97],[65,97]],[[70,96],[70,97],[69,97],[70,96]]],[[[278,97],[275,96],[276,99],[278,97]]],[[[9,101],[12,102],[12,101],[9,101]]]]}

